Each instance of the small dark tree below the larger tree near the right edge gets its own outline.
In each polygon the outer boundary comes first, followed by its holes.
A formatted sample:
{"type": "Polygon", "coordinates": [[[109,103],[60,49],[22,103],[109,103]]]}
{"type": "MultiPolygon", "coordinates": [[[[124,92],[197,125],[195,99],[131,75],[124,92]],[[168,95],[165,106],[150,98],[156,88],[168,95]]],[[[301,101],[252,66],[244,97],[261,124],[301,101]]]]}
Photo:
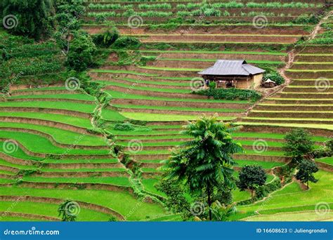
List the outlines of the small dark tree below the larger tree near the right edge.
{"type": "Polygon", "coordinates": [[[299,163],[297,169],[299,171],[296,173],[296,179],[306,183],[307,187],[308,182],[318,182],[318,179],[316,179],[313,175],[313,173],[317,173],[319,171],[319,168],[314,161],[304,159],[299,163]]]}

